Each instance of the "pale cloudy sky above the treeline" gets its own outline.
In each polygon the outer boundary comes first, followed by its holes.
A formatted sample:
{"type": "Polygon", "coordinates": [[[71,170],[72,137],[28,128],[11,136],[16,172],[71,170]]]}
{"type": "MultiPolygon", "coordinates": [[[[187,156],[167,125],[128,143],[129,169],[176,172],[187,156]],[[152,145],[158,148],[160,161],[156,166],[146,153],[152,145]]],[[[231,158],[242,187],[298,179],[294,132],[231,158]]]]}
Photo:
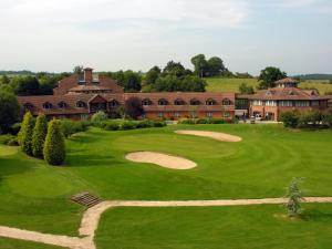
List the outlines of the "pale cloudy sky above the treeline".
{"type": "Polygon", "coordinates": [[[332,0],[0,0],[0,70],[147,71],[219,56],[332,73],[332,0]]]}

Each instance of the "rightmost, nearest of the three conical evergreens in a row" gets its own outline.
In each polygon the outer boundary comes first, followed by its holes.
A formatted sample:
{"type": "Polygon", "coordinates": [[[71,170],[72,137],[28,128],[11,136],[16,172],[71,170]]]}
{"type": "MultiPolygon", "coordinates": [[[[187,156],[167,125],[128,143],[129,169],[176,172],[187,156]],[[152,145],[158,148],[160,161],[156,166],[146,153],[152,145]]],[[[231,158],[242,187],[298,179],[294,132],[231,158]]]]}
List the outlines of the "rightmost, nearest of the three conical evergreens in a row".
{"type": "Polygon", "coordinates": [[[60,122],[56,120],[49,123],[43,154],[44,159],[50,165],[61,165],[64,162],[64,136],[61,132],[60,122]]]}

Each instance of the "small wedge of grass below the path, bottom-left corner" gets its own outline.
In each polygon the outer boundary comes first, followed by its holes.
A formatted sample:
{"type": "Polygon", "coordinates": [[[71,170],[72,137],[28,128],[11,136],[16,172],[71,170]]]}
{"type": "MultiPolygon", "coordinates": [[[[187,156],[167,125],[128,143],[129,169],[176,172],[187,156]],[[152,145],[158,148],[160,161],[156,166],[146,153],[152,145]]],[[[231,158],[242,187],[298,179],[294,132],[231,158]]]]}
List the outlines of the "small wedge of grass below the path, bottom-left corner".
{"type": "Polygon", "coordinates": [[[30,241],[7,239],[0,237],[1,249],[64,249],[63,247],[49,246],[44,243],[35,243],[30,241]]]}

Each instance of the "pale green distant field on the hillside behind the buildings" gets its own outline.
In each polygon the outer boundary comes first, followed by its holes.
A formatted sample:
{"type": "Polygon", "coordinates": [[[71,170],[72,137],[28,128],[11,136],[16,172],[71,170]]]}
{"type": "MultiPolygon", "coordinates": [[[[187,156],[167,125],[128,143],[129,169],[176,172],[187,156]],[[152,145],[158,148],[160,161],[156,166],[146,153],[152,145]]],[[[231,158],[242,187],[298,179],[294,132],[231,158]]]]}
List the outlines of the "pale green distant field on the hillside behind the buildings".
{"type": "MultiPolygon", "coordinates": [[[[225,77],[209,77],[206,79],[208,83],[207,92],[239,92],[239,85],[247,83],[255,89],[258,85],[257,79],[225,79],[225,77]]],[[[300,87],[317,89],[321,94],[332,92],[332,84],[328,81],[305,81],[300,84],[300,87]]]]}

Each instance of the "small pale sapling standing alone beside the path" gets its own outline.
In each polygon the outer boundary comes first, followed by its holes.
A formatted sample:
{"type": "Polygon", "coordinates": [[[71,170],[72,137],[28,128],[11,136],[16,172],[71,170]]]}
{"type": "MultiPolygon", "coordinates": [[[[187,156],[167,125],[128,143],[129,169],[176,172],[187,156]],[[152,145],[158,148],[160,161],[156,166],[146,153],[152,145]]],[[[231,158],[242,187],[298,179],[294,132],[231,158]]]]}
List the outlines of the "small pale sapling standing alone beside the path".
{"type": "Polygon", "coordinates": [[[288,198],[287,204],[284,204],[286,211],[288,216],[294,217],[301,212],[301,201],[303,200],[302,193],[299,188],[299,179],[293,178],[290,183],[286,198],[288,198]]]}

